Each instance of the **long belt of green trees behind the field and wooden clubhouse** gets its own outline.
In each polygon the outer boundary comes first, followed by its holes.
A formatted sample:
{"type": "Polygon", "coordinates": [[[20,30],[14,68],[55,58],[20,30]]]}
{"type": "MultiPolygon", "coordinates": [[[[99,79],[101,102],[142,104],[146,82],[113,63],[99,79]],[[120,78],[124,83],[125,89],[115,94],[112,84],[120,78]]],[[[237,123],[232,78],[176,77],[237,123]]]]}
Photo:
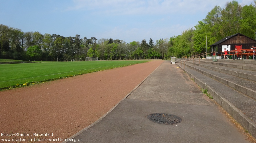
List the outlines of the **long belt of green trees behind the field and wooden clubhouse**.
{"type": "Polygon", "coordinates": [[[170,39],[143,39],[126,43],[119,39],[63,37],[57,34],[23,32],[0,24],[0,58],[71,61],[74,58],[99,57],[99,60],[168,59],[210,51],[209,45],[235,33],[255,38],[256,1],[241,6],[237,1],[227,2],[224,8],[215,6],[206,17],[181,35],[170,39]],[[206,45],[207,37],[207,45],[206,45]]]}

